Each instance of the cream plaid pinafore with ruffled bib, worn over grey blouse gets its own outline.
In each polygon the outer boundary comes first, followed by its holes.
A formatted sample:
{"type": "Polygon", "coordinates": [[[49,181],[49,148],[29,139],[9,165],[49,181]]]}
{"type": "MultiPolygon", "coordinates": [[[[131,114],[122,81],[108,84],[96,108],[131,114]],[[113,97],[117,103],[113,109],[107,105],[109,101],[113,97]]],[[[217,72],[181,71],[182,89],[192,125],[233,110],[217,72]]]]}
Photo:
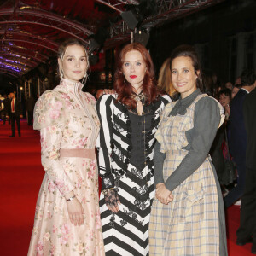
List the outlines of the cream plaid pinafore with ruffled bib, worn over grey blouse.
{"type": "MultiPolygon", "coordinates": [[[[195,103],[184,115],[168,116],[176,102],[163,112],[156,139],[166,153],[164,180],[177,169],[187,150],[185,131],[194,127],[195,103]]],[[[222,123],[221,123],[222,124],[222,123]]],[[[221,125],[220,124],[220,125],[221,125]]],[[[208,157],[176,189],[168,205],[154,199],[149,222],[149,254],[162,256],[219,255],[218,189],[208,157]]]]}

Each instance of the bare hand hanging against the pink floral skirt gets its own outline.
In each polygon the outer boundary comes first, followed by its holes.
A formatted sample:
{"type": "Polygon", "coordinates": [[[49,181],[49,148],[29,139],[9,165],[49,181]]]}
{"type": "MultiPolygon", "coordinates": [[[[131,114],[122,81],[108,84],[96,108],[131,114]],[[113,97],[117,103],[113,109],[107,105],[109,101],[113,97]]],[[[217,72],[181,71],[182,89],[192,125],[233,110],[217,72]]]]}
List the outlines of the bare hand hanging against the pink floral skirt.
{"type": "Polygon", "coordinates": [[[73,201],[67,201],[67,212],[72,224],[75,226],[84,224],[84,209],[76,197],[73,201]]]}

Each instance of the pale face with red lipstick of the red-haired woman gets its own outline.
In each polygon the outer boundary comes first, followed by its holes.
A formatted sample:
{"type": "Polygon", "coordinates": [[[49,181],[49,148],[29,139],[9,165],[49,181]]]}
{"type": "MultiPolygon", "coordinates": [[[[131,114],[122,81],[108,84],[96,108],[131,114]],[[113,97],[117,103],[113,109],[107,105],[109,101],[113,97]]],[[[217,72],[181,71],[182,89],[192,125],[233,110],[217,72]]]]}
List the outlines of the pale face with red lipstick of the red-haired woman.
{"type": "Polygon", "coordinates": [[[131,50],[125,54],[122,71],[135,92],[142,86],[146,70],[143,55],[138,50],[131,50]]]}

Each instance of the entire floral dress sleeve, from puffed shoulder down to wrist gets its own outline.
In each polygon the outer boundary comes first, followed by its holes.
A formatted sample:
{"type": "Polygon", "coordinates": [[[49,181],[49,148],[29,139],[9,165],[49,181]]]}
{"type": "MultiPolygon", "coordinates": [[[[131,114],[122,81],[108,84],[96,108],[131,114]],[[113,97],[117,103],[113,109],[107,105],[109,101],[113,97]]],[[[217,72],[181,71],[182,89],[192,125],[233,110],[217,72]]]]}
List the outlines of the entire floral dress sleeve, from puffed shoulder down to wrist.
{"type": "Polygon", "coordinates": [[[34,129],[40,130],[41,161],[44,171],[55,183],[61,195],[66,195],[75,188],[60,162],[65,118],[65,102],[61,96],[54,91],[46,91],[34,110],[34,129]]]}

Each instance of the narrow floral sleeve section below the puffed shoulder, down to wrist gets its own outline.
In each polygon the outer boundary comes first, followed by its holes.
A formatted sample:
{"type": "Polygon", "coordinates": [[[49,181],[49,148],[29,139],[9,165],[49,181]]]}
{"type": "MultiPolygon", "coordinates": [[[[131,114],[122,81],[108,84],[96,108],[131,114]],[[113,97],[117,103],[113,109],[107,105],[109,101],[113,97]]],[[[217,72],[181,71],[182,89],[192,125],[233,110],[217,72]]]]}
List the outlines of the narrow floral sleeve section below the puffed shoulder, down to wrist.
{"type": "Polygon", "coordinates": [[[44,171],[55,183],[62,195],[75,189],[75,186],[60,162],[60,148],[64,125],[52,125],[40,130],[41,161],[44,171]]]}

